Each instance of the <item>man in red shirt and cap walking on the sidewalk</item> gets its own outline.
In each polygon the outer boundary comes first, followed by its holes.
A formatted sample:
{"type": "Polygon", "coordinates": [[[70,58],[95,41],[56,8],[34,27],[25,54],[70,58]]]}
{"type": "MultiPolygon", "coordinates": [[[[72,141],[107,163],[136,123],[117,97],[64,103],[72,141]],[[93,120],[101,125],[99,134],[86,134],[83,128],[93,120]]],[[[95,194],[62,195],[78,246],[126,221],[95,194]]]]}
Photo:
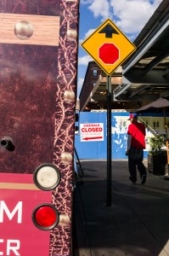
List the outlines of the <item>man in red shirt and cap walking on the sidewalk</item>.
{"type": "Polygon", "coordinates": [[[128,125],[127,131],[127,152],[128,169],[130,172],[129,179],[132,183],[137,182],[137,169],[141,178],[141,183],[146,182],[147,172],[143,164],[145,148],[145,126],[138,123],[138,115],[130,113],[129,119],[131,124],[128,125]]]}

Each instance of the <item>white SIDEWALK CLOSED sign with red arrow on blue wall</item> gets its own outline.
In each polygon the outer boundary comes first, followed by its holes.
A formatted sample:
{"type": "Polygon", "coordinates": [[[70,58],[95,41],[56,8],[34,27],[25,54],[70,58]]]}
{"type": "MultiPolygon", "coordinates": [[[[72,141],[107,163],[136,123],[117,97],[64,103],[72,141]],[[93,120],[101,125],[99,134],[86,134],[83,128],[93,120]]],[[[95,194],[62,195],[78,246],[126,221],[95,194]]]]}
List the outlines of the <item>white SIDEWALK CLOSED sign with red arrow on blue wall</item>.
{"type": "Polygon", "coordinates": [[[104,124],[81,124],[81,142],[104,141],[104,124]]]}

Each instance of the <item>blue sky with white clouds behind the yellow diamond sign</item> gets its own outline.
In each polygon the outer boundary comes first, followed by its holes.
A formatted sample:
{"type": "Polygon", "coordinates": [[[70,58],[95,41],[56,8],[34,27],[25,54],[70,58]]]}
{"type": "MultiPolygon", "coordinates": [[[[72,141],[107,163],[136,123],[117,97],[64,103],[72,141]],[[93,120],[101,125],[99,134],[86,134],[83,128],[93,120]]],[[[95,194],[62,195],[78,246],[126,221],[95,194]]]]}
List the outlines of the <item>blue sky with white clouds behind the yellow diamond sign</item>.
{"type": "Polygon", "coordinates": [[[82,49],[82,42],[110,18],[131,41],[137,37],[162,0],[80,0],[77,96],[92,58],[82,49]]]}

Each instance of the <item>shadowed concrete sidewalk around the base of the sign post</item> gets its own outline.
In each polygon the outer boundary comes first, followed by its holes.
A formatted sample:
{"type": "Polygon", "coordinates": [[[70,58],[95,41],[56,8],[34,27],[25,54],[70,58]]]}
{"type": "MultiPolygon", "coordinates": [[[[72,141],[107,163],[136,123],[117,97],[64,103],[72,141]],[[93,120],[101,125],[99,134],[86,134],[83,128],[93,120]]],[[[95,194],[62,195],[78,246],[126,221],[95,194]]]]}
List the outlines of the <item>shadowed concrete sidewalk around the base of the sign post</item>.
{"type": "Polygon", "coordinates": [[[133,185],[127,160],[112,161],[112,205],[106,207],[106,161],[81,164],[73,256],[169,255],[169,181],[148,173],[144,185],[139,180],[133,185]]]}

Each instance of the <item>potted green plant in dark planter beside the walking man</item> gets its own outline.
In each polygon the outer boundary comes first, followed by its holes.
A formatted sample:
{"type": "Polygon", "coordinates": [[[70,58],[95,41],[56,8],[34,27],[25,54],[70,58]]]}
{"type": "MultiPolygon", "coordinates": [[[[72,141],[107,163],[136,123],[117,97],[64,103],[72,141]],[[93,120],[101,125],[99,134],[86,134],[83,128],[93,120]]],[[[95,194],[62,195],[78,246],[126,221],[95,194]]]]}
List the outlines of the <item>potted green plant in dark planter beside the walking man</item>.
{"type": "Polygon", "coordinates": [[[155,175],[164,175],[167,163],[166,138],[156,135],[149,138],[148,172],[155,175]]]}

